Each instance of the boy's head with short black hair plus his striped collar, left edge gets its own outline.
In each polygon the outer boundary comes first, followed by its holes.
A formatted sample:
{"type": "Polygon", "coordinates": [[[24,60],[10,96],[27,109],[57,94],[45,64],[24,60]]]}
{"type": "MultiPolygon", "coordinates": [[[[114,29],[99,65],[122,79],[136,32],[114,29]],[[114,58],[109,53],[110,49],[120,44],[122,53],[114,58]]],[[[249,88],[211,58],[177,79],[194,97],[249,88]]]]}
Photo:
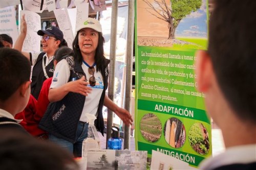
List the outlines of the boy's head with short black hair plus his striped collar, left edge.
{"type": "MultiPolygon", "coordinates": [[[[14,115],[22,111],[30,96],[29,60],[17,50],[0,48],[0,129],[24,130],[14,115]]],[[[24,130],[25,131],[25,130],[24,130]]]]}

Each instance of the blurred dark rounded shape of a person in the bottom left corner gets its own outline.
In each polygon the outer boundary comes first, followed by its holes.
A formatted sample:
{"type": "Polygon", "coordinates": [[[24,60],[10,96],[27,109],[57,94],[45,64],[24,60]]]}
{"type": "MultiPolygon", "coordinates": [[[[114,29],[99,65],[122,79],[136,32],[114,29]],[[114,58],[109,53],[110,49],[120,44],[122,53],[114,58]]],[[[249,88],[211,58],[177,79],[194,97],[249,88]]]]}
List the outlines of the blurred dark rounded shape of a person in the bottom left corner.
{"type": "Polygon", "coordinates": [[[79,170],[66,150],[17,131],[0,129],[0,169],[79,170]]]}

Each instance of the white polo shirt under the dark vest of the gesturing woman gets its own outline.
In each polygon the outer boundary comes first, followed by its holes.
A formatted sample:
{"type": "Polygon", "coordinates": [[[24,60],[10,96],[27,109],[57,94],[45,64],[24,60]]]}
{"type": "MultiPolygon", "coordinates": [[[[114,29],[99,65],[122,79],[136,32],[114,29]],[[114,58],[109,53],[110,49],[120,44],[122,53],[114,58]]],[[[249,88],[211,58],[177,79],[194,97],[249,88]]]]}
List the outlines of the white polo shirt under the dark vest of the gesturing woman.
{"type": "MultiPolygon", "coordinates": [[[[88,85],[89,87],[92,88],[92,91],[91,93],[88,93],[88,95],[86,96],[86,102],[84,102],[82,114],[80,117],[81,122],[87,122],[87,118],[85,116],[86,113],[94,114],[96,117],[98,114],[97,110],[99,106],[99,100],[104,88],[104,84],[103,84],[102,75],[100,74],[99,71],[96,72],[96,66],[94,66],[94,68],[95,68],[94,77],[96,79],[96,85],[94,87],[91,87],[90,85],[88,85]]],[[[82,63],[82,69],[86,74],[87,80],[89,82],[89,78],[91,77],[91,75],[88,72],[89,67],[86,64],[82,63]]],[[[53,81],[50,88],[57,88],[68,83],[69,78],[70,78],[70,69],[69,69],[69,64],[67,60],[59,61],[58,64],[56,65],[56,68],[53,74],[53,81]]]]}

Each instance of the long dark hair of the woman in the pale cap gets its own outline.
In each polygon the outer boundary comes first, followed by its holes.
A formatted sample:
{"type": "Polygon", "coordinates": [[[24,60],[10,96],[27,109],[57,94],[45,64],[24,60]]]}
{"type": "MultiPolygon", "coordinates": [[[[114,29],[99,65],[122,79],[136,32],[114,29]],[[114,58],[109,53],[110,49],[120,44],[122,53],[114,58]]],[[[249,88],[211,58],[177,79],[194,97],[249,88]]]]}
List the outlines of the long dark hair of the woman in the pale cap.
{"type": "MultiPolygon", "coordinates": [[[[72,43],[73,46],[73,51],[74,51],[74,59],[75,61],[82,63],[82,54],[78,45],[78,35],[79,31],[76,33],[76,37],[72,43]]],[[[99,68],[102,68],[102,65],[105,63],[104,59],[104,44],[105,40],[101,32],[99,32],[99,40],[98,40],[98,46],[96,48],[96,53],[95,53],[95,63],[96,63],[96,70],[99,71],[99,68]]],[[[103,74],[103,72],[101,72],[103,74]]]]}

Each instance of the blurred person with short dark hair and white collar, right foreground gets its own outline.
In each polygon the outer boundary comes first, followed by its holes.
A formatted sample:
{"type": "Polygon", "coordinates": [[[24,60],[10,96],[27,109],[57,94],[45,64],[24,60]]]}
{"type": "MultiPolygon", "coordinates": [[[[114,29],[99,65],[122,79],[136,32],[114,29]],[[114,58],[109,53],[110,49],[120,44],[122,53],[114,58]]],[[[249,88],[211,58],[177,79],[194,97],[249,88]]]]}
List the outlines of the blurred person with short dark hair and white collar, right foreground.
{"type": "Polygon", "coordinates": [[[200,169],[256,169],[256,1],[215,0],[208,51],[197,52],[198,90],[226,151],[200,169]]]}

